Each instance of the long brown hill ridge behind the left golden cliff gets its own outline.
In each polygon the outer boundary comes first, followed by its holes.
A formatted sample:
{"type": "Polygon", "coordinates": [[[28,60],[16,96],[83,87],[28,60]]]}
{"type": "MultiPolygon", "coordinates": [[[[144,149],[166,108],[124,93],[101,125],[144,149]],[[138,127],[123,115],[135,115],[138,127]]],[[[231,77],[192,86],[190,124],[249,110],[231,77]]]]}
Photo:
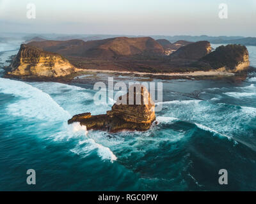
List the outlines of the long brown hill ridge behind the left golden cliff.
{"type": "Polygon", "coordinates": [[[28,45],[56,52],[65,56],[91,57],[97,59],[116,59],[131,55],[163,55],[163,47],[154,39],[109,38],[105,40],[68,40],[31,42],[28,45]]]}

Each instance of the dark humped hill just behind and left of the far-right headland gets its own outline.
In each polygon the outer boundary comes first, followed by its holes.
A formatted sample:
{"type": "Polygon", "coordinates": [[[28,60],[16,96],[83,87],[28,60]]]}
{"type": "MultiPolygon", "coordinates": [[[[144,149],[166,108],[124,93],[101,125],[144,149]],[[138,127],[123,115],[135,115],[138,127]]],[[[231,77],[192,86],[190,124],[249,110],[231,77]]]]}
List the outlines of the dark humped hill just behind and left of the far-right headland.
{"type": "Polygon", "coordinates": [[[180,47],[176,52],[170,55],[171,60],[198,60],[211,52],[211,44],[209,41],[198,41],[189,43],[184,47],[180,47]]]}

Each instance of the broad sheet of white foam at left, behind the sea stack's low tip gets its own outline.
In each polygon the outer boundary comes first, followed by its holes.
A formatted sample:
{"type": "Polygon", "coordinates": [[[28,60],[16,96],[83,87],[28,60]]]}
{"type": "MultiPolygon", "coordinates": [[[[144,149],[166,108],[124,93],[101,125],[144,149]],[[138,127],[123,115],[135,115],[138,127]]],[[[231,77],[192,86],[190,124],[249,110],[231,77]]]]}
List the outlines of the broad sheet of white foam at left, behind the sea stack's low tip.
{"type": "Polygon", "coordinates": [[[67,121],[71,116],[49,94],[24,82],[0,78],[0,92],[19,97],[8,105],[12,115],[46,121],[67,121]]]}

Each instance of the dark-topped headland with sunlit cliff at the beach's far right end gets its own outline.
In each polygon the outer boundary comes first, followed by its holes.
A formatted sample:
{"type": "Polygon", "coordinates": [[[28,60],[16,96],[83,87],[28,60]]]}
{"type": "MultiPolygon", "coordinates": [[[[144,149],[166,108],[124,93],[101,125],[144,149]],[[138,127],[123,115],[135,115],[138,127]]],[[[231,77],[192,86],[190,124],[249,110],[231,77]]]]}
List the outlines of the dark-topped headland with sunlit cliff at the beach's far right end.
{"type": "Polygon", "coordinates": [[[226,45],[202,57],[198,66],[218,71],[237,72],[250,66],[248,50],[243,45],[226,45]]]}

